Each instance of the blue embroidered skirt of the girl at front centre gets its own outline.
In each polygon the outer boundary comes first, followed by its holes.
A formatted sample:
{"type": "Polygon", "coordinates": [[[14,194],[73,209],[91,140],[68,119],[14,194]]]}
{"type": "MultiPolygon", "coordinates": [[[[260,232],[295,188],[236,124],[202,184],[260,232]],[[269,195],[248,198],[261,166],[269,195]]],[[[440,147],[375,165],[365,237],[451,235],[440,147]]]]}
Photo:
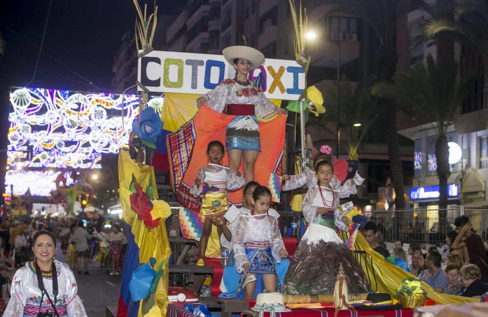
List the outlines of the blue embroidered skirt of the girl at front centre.
{"type": "Polygon", "coordinates": [[[246,242],[244,243],[244,249],[250,263],[250,273],[276,274],[269,242],[246,242]]]}

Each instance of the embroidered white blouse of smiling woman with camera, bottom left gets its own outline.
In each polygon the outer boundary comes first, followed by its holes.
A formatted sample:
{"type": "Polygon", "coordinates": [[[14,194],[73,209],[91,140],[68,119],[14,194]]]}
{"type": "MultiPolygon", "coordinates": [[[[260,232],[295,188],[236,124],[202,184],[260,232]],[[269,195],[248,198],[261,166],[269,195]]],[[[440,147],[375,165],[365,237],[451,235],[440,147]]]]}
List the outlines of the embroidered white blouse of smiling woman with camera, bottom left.
{"type": "MultiPolygon", "coordinates": [[[[78,287],[75,276],[69,266],[54,260],[58,277],[58,296],[56,297],[56,310],[60,317],[85,317],[85,309],[78,297],[78,287]]],[[[43,277],[44,288],[51,300],[53,296],[52,277],[43,277]]],[[[41,312],[53,310],[51,302],[44,295],[41,303],[41,289],[37,282],[34,262],[27,262],[20,268],[12,279],[10,290],[11,298],[3,316],[8,317],[36,317],[41,312]]]]}

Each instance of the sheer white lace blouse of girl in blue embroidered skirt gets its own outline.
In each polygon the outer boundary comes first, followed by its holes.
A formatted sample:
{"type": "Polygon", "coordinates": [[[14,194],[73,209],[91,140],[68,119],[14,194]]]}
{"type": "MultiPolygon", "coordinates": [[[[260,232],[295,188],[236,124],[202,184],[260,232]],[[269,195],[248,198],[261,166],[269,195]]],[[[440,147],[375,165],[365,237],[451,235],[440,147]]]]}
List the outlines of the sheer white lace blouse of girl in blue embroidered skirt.
{"type": "Polygon", "coordinates": [[[278,220],[269,214],[242,215],[233,237],[234,259],[238,273],[244,271],[243,264],[249,263],[245,243],[268,243],[272,258],[281,263],[280,249],[285,249],[278,227],[278,220]]]}

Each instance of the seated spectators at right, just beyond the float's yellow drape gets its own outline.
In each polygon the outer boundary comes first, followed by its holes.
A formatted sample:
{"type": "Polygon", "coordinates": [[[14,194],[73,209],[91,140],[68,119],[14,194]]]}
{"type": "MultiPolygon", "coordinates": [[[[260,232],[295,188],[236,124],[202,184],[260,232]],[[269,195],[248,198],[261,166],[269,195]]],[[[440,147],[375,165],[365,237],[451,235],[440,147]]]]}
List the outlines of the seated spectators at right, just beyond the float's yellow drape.
{"type": "Polygon", "coordinates": [[[488,244],[472,229],[466,216],[457,217],[445,245],[404,245],[395,241],[390,251],[381,239],[380,226],[366,222],[363,235],[370,247],[391,263],[423,280],[439,293],[480,297],[488,292],[488,244]]]}

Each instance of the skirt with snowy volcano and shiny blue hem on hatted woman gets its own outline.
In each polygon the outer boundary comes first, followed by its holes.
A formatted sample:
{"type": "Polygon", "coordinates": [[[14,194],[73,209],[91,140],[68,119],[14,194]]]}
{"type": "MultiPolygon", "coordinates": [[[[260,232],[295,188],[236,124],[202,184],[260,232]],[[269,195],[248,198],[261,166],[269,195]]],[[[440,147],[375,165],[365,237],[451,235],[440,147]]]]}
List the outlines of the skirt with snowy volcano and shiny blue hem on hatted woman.
{"type": "Polygon", "coordinates": [[[247,150],[261,152],[259,123],[256,116],[237,116],[225,133],[226,150],[247,150]]]}

